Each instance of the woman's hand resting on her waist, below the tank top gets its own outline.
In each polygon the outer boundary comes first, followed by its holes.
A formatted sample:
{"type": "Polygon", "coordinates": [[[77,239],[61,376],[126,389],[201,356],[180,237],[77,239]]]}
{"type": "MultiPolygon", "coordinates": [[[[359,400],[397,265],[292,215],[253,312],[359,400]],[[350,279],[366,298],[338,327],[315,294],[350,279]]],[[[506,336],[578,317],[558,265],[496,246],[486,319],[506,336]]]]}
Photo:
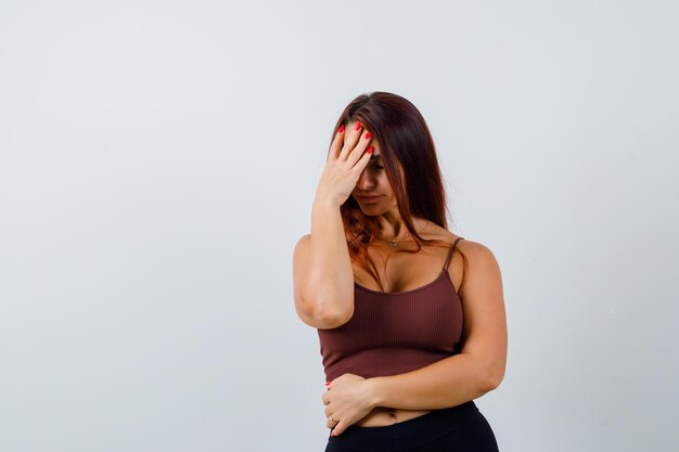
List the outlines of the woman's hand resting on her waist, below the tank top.
{"type": "Polygon", "coordinates": [[[333,379],[323,393],[325,418],[332,436],[341,435],[375,408],[369,380],[354,374],[333,379]]]}

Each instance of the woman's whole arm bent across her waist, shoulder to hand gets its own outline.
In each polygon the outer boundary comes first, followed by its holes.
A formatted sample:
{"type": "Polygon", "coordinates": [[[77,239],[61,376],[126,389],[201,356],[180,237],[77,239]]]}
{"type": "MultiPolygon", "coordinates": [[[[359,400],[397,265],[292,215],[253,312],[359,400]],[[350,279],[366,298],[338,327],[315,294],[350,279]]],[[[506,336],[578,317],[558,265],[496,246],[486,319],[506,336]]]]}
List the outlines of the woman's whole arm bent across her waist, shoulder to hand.
{"type": "Polygon", "coordinates": [[[376,406],[402,410],[456,406],[500,385],[507,362],[500,268],[484,245],[463,241],[460,248],[469,260],[466,281],[459,290],[464,312],[462,351],[405,374],[369,379],[345,374],[331,382],[323,402],[326,414],[341,419],[334,435],[376,406]]]}

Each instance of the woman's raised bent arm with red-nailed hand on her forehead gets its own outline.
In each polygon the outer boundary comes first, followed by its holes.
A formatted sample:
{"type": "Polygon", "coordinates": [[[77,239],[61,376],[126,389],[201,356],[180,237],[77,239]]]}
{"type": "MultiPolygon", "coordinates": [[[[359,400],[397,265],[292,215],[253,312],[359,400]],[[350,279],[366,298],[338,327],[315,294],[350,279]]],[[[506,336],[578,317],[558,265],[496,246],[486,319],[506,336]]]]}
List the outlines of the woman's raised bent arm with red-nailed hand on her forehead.
{"type": "Polygon", "coordinates": [[[293,256],[295,309],[317,328],[337,327],[354,314],[354,271],[340,207],[370,159],[370,134],[362,131],[359,125],[335,135],[316,191],[311,234],[297,242],[293,256]]]}

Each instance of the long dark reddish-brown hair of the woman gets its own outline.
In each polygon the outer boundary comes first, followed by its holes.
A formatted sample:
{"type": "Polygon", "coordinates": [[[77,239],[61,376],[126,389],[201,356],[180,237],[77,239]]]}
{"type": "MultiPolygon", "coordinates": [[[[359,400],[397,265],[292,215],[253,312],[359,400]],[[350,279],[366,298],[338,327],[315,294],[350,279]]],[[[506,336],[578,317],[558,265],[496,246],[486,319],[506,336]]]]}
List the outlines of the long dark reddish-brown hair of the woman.
{"type": "MultiPolygon", "coordinates": [[[[340,116],[332,137],[341,126],[346,127],[353,121],[360,121],[380,143],[382,162],[398,211],[418,246],[411,253],[418,253],[423,244],[449,246],[446,242],[420,236],[412,223],[415,216],[448,228],[446,192],[436,148],[420,111],[400,95],[377,91],[361,94],[351,101],[340,116]]],[[[342,205],[341,214],[349,256],[384,289],[375,264],[368,256],[368,246],[379,232],[376,218],[364,215],[353,196],[342,205]]]]}

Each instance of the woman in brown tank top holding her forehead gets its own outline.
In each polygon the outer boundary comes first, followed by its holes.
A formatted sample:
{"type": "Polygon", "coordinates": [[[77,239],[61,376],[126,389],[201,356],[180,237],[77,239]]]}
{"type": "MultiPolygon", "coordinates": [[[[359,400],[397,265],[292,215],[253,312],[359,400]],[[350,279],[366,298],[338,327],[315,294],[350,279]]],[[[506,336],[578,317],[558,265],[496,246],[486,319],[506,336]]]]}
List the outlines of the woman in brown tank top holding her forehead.
{"type": "Polygon", "coordinates": [[[355,99],[335,126],[295,308],[318,328],[325,451],[497,451],[473,400],[504,375],[500,269],[447,230],[431,133],[409,101],[355,99]]]}

